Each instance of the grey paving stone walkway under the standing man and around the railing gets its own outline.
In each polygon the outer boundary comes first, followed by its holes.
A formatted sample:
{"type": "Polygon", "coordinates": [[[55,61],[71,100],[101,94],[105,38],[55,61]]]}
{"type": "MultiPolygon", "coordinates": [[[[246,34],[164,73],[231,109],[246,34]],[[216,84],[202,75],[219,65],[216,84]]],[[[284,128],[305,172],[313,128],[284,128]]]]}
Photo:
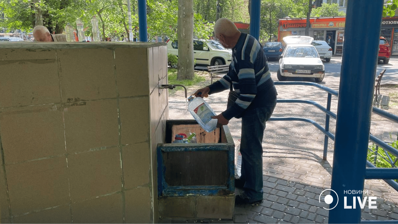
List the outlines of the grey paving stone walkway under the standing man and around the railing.
{"type": "MultiPolygon", "coordinates": [[[[275,79],[276,80],[276,75],[275,79]]],[[[327,81],[330,82],[330,81],[327,81]]],[[[311,86],[277,86],[279,99],[309,99],[326,107],[326,94],[311,86]],[[323,94],[323,95],[322,95],[323,94]],[[324,96],[322,98],[321,96],[324,96]]],[[[188,94],[191,94],[190,92],[188,94]]],[[[226,107],[227,91],[211,95],[205,100],[218,114],[226,107]]],[[[337,112],[337,98],[332,98],[332,112],[337,112]]],[[[303,117],[324,126],[325,116],[308,104],[277,104],[273,117],[303,117]]],[[[192,119],[185,110],[185,99],[169,97],[170,119],[192,119]]],[[[331,119],[334,133],[336,122],[331,119]]],[[[240,139],[240,120],[228,124],[236,144],[240,139]]],[[[396,134],[398,126],[388,121],[374,121],[371,133],[383,141],[396,134]]],[[[264,202],[255,206],[236,206],[231,220],[185,220],[174,218],[162,223],[250,223],[250,224],[306,224],[328,223],[326,203],[319,203],[320,193],[330,188],[334,142],[328,142],[327,160],[322,160],[324,135],[312,124],[304,122],[267,122],[263,139],[264,202]]],[[[366,180],[364,196],[377,196],[377,209],[362,209],[362,219],[398,220],[398,194],[382,180],[366,180]]],[[[238,193],[238,189],[236,193],[238,193]]]]}

